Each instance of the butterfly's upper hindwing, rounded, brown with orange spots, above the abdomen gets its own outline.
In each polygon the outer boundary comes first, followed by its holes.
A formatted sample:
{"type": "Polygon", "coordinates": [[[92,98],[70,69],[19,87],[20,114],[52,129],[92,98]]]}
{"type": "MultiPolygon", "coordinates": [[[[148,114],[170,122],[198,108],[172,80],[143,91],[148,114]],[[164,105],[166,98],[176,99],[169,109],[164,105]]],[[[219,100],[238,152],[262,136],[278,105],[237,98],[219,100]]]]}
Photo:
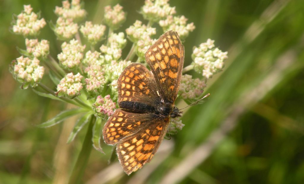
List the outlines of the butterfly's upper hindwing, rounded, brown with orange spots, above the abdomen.
{"type": "Polygon", "coordinates": [[[156,82],[152,73],[140,63],[127,66],[118,79],[118,102],[158,102],[156,82]]]}

